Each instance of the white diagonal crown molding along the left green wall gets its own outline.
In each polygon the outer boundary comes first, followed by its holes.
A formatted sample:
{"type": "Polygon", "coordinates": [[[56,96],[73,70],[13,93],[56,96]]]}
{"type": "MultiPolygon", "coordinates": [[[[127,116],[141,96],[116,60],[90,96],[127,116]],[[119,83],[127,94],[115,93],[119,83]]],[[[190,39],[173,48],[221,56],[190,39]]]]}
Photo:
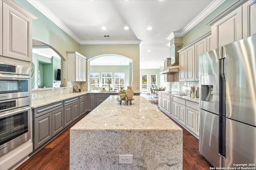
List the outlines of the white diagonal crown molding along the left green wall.
{"type": "Polygon", "coordinates": [[[55,23],[60,29],[67,33],[70,37],[76,40],[78,43],[81,39],[76,36],[62,21],[60,21],[50,10],[48,10],[39,0],[27,0],[32,6],[34,6],[38,11],[44,14],[49,20],[55,23]]]}

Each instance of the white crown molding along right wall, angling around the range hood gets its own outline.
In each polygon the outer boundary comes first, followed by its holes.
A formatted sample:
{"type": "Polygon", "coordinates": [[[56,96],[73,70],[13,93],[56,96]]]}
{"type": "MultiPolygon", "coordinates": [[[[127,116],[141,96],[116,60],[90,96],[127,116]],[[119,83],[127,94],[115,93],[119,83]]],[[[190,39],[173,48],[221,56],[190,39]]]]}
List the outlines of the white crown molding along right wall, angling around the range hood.
{"type": "Polygon", "coordinates": [[[196,24],[202,21],[206,16],[208,16],[212,11],[214,11],[218,6],[220,6],[224,0],[214,0],[212,1],[202,12],[200,12],[196,18],[194,18],[186,27],[184,27],[181,31],[173,31],[166,39],[169,41],[174,37],[182,37],[185,35],[190,29],[192,29],[196,24]]]}

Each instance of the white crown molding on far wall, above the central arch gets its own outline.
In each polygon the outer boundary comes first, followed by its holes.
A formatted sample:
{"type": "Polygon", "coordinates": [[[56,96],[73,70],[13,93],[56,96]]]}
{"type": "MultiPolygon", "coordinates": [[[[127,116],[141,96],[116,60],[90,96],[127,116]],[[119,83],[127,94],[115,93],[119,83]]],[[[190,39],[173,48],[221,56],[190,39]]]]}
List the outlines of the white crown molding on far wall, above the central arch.
{"type": "Polygon", "coordinates": [[[81,41],[80,44],[140,44],[141,40],[81,41]]]}

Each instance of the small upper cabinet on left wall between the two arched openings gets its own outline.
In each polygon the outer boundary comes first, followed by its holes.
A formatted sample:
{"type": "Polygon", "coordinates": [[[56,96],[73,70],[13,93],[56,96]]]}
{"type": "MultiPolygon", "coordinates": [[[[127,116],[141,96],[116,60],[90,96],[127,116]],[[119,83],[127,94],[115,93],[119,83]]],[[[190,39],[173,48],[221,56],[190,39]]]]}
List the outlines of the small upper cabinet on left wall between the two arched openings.
{"type": "Polygon", "coordinates": [[[76,51],[67,51],[68,81],[86,81],[86,57],[76,51]]]}

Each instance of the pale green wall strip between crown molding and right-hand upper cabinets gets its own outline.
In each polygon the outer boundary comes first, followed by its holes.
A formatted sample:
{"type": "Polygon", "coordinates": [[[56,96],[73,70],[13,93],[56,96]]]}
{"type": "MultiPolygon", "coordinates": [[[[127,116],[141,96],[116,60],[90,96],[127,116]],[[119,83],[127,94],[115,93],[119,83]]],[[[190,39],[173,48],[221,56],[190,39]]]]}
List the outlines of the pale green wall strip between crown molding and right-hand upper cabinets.
{"type": "Polygon", "coordinates": [[[195,25],[190,31],[188,31],[183,36],[183,47],[186,45],[192,43],[196,39],[202,37],[202,35],[208,33],[211,31],[211,26],[206,25],[210,20],[218,16],[221,12],[226,10],[229,6],[234,4],[236,0],[225,0],[218,8],[216,8],[213,12],[211,12],[206,18],[204,18],[202,21],[200,21],[197,25],[195,25]]]}

